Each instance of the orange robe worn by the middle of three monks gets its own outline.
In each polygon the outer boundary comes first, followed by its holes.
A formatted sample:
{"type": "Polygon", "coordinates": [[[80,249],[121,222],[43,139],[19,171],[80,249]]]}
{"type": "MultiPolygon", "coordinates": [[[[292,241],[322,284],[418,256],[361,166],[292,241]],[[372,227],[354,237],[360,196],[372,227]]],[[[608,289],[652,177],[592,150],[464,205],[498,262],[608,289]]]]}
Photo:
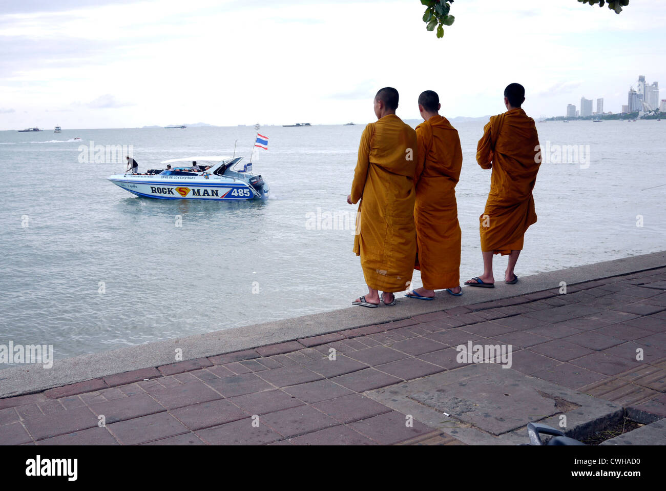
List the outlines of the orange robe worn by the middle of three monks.
{"type": "Polygon", "coordinates": [[[428,290],[460,284],[460,225],[456,184],[462,168],[458,131],[445,117],[433,116],[416,127],[416,269],[428,290]]]}

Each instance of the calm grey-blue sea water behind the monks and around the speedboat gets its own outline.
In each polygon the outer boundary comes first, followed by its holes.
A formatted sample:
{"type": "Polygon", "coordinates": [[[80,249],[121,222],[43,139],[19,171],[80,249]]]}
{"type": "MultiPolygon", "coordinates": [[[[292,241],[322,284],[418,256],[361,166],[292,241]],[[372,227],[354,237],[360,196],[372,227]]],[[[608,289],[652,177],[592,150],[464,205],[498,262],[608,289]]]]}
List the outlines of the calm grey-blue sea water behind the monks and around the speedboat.
{"type": "MultiPolygon", "coordinates": [[[[490,171],[475,158],[484,121],[455,125],[464,282],[482,272],[490,171]]],[[[135,197],[106,179],[125,159],[83,154],[91,142],[125,146],[141,172],[234,155],[236,141],[247,157],[252,127],[1,131],[0,344],[53,344],[58,359],[351,306],[367,292],[346,203],[363,129],[262,127],[254,171],[271,199],[228,203],[135,197]]],[[[518,276],[664,249],[666,121],[537,129],[548,152],[518,276]]],[[[496,280],[504,268],[496,256],[496,280]]]]}

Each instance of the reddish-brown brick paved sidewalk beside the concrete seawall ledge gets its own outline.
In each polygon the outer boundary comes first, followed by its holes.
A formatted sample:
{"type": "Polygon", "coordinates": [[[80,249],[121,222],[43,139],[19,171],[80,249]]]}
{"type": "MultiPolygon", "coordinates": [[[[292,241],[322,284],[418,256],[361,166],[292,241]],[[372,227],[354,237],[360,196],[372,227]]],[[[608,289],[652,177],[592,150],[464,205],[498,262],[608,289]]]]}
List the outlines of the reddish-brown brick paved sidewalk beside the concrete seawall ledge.
{"type": "Polygon", "coordinates": [[[511,344],[513,370],[666,417],[657,268],[0,399],[0,444],[460,444],[364,392],[461,368],[469,341],[511,344]]]}

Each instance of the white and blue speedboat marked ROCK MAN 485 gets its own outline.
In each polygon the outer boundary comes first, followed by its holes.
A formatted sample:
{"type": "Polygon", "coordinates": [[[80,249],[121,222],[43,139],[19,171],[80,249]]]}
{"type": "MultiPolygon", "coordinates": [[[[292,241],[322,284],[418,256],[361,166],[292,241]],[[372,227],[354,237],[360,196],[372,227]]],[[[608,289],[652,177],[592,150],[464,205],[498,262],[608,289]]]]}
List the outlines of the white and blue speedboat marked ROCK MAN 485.
{"type": "Polygon", "coordinates": [[[214,199],[238,201],[264,199],[270,188],[252,163],[233,170],[242,157],[186,157],[163,161],[171,169],[151,169],[145,174],[119,174],[107,179],[133,195],[160,199],[214,199]]]}

